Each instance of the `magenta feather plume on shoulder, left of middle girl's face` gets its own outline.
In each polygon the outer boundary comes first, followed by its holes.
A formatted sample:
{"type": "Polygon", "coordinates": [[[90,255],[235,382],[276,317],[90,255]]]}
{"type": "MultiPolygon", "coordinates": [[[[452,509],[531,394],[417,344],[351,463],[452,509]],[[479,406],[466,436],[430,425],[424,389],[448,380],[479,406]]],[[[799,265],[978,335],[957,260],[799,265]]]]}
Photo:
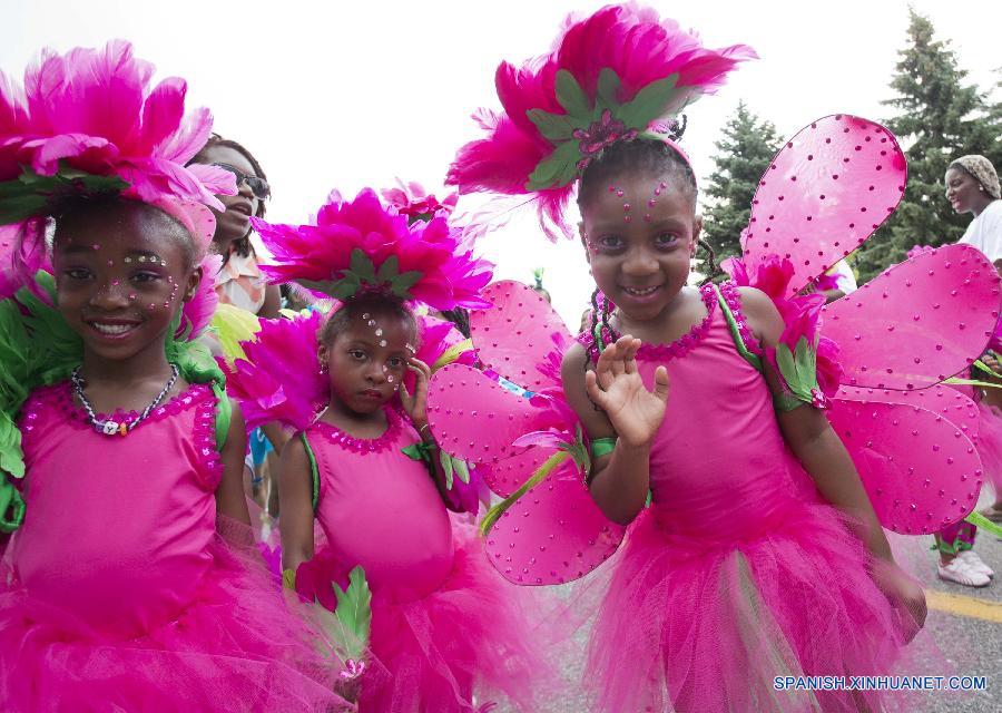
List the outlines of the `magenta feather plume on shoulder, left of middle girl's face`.
{"type": "Polygon", "coordinates": [[[323,319],[314,311],[262,320],[255,339],[240,342],[247,359],[233,367],[220,363],[226,392],[239,401],[248,429],[278,421],[303,430],[327,402],[331,385],[316,356],[323,319]]]}

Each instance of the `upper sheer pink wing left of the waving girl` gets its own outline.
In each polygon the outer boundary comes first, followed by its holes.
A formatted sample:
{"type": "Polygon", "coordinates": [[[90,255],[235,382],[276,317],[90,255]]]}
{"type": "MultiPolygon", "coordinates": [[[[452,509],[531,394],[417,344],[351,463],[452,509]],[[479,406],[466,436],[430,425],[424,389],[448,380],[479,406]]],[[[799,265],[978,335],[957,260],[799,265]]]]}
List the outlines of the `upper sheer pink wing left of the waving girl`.
{"type": "Polygon", "coordinates": [[[484,290],[488,310],[470,313],[470,331],[485,367],[530,391],[560,387],[560,362],[553,355],[573,339],[563,320],[536,290],[513,280],[484,290]]]}

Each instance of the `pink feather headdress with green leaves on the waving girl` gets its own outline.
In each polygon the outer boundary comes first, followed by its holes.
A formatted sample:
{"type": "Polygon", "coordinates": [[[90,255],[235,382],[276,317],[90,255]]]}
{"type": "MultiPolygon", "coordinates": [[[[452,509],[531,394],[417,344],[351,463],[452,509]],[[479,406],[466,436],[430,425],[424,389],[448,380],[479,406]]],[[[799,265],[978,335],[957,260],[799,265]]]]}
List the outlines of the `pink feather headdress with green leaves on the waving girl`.
{"type": "Polygon", "coordinates": [[[498,67],[504,110],[474,116],[489,136],[459,150],[446,179],[461,194],[530,196],[551,240],[570,235],[563,211],[592,158],[638,137],[675,146],[685,129],[675,117],[757,57],[746,45],[705,48],[675,20],[632,3],[568,18],[554,47],[521,68],[498,67]]]}

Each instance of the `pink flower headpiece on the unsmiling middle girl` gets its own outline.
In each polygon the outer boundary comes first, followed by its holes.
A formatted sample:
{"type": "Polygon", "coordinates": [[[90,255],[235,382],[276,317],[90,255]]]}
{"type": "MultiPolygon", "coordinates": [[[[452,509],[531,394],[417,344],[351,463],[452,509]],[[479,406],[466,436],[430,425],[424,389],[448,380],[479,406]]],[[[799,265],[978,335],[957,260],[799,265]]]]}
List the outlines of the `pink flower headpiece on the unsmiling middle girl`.
{"type": "Polygon", "coordinates": [[[371,188],[351,202],[332,193],[315,225],[250,221],[272,253],[262,265],[272,282],[295,281],[337,300],[383,292],[435,310],[490,306],[480,291],[493,265],[473,256],[462,231],[442,215],[409,225],[371,188]]]}

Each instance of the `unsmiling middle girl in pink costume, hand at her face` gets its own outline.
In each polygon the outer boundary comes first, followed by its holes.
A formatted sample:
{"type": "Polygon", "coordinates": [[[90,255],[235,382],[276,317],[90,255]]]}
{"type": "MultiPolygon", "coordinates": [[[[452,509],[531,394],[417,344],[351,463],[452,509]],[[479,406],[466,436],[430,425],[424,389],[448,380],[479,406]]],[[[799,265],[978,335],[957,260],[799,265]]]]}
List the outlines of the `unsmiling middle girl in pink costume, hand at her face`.
{"type": "MultiPolygon", "coordinates": [[[[350,202],[333,194],[315,225],[255,225],[274,255],[264,266],[273,280],[343,300],[318,334],[315,316],[299,318],[306,336],[283,340],[299,349],[279,359],[312,361],[310,372],[276,378],[274,392],[254,401],[275,404],[261,418],[299,429],[279,476],[287,577],[296,573],[301,594],[337,611],[343,596],[332,583],[346,588],[361,567],[371,587],[370,646],[390,681],[363,676],[360,710],[487,710],[497,694],[530,705],[529,629],[479,543],[453,534],[446,480],[459,476],[428,426],[431,371],[414,358],[419,333],[407,306],[485,306],[479,292],[490,265],[472,256],[444,215],[409,226],[369,189],[350,202]],[[412,389],[404,385],[409,372],[412,389]],[[326,407],[318,418],[317,401],[326,407]],[[317,553],[314,519],[327,541],[317,553]]],[[[236,365],[249,377],[267,371],[267,362],[236,365]]]]}

